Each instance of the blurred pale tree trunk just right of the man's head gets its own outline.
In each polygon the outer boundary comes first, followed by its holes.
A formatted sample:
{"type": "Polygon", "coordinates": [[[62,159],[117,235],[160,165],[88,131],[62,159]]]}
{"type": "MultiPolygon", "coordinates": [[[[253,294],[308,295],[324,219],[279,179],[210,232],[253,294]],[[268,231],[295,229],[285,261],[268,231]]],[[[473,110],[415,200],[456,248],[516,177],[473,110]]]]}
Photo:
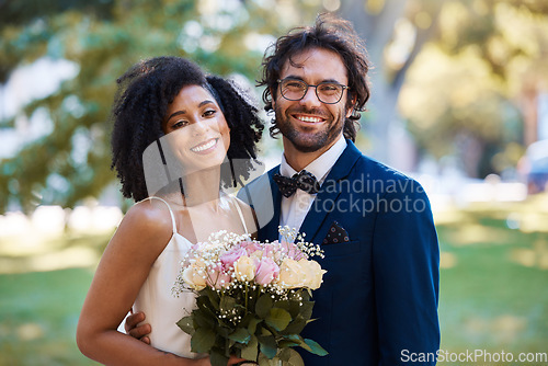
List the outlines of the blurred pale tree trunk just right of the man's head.
{"type": "Polygon", "coordinates": [[[442,4],[437,0],[353,0],[344,2],[340,11],[366,39],[374,66],[369,112],[364,115],[365,129],[372,136],[367,153],[389,164],[397,164],[390,131],[401,123],[397,108],[400,90],[416,55],[435,35],[442,4]]]}

